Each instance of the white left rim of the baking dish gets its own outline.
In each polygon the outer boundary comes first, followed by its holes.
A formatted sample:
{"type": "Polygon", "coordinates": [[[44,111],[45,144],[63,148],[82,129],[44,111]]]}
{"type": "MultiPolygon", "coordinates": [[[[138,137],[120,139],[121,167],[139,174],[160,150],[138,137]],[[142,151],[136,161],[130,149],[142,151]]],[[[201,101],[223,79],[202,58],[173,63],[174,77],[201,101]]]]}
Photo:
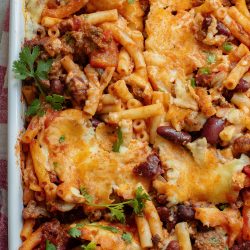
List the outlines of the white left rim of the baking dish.
{"type": "Polygon", "coordinates": [[[10,0],[9,63],[8,63],[8,241],[9,250],[20,246],[22,227],[22,185],[19,165],[18,136],[23,128],[24,105],[21,82],[12,72],[24,39],[23,1],[10,0]]]}

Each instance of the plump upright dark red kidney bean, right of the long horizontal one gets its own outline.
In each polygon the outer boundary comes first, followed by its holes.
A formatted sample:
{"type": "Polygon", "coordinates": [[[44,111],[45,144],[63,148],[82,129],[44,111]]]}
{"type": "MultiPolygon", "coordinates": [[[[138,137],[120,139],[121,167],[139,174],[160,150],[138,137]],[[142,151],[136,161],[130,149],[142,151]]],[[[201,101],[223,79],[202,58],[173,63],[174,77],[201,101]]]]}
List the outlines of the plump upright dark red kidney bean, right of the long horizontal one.
{"type": "Polygon", "coordinates": [[[206,137],[207,142],[216,144],[219,141],[219,134],[223,130],[225,121],[217,117],[210,117],[204,124],[201,136],[206,137]]]}

